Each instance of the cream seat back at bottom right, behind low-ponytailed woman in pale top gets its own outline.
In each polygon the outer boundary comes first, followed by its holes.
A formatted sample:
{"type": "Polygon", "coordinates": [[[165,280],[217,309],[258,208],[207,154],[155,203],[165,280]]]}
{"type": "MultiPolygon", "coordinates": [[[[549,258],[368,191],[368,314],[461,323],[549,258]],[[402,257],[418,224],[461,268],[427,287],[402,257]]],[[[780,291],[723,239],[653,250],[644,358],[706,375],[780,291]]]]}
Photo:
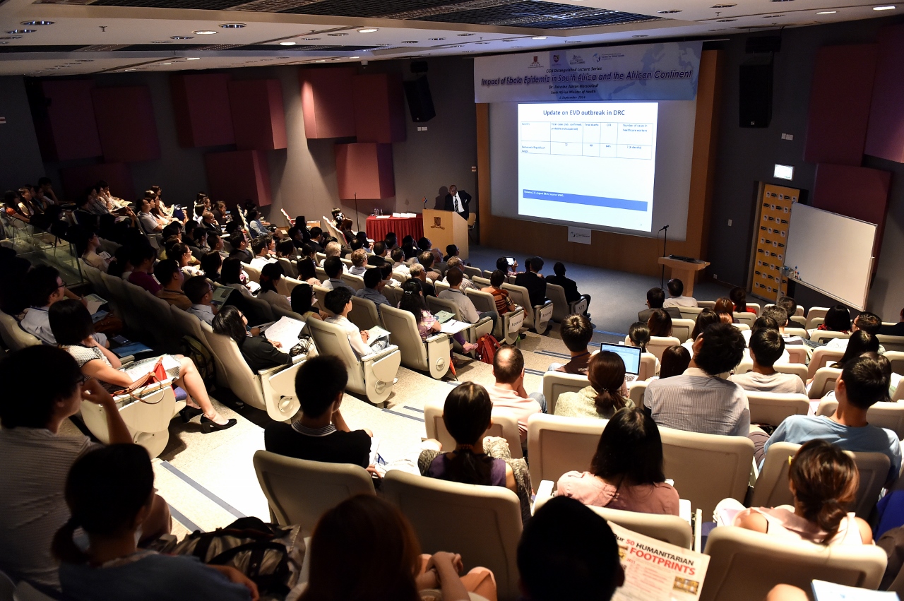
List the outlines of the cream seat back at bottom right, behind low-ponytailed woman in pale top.
{"type": "Polygon", "coordinates": [[[777,584],[810,590],[814,579],[875,589],[887,563],[872,545],[826,547],[734,526],[713,529],[704,552],[710,566],[701,601],[762,601],[777,584]]]}

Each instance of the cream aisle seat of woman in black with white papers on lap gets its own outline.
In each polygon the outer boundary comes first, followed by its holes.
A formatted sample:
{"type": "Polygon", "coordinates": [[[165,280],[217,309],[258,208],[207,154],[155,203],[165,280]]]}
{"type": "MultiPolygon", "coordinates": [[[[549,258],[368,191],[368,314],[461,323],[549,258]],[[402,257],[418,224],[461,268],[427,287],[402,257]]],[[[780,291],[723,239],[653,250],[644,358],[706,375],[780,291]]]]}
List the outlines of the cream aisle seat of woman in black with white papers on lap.
{"type": "Polygon", "coordinates": [[[251,407],[267,411],[270,419],[287,421],[293,418],[299,408],[295,396],[295,374],[304,360],[254,373],[241,356],[239,345],[229,336],[214,333],[210,328],[210,325],[202,324],[207,343],[223,363],[226,380],[235,396],[251,407]]]}

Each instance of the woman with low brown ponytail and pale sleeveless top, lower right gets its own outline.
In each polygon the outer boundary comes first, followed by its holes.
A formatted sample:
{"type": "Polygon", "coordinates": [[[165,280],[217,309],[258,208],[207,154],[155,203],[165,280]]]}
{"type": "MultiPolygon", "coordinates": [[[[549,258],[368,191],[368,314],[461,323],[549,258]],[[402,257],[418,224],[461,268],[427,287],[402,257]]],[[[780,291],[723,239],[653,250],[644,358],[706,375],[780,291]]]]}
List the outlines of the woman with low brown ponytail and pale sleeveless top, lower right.
{"type": "MultiPolygon", "coordinates": [[[[788,480],[794,505],[743,509],[732,525],[826,546],[872,544],[870,525],[850,511],[860,476],[841,446],[825,440],[805,442],[791,458],[788,480]]],[[[740,505],[723,503],[732,508],[740,505]]]]}

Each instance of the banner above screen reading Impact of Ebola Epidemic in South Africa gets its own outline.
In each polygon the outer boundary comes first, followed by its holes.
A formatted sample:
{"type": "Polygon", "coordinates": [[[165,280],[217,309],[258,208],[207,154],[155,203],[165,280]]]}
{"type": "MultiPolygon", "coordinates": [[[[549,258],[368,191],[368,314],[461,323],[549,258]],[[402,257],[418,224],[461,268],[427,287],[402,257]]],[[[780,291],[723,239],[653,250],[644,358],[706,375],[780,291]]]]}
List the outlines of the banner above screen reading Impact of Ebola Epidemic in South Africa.
{"type": "Polygon", "coordinates": [[[692,100],[702,42],[478,57],[474,101],[692,100]]]}

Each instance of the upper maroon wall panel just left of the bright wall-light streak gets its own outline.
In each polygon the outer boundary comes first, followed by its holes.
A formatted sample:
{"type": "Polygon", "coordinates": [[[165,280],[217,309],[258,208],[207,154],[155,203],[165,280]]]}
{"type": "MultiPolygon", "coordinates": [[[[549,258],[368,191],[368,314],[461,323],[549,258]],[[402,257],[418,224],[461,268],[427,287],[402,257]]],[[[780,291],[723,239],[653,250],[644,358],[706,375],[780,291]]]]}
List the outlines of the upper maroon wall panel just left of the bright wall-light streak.
{"type": "Polygon", "coordinates": [[[239,150],[287,146],[286,113],[279,80],[230,81],[232,126],[239,150]]]}

